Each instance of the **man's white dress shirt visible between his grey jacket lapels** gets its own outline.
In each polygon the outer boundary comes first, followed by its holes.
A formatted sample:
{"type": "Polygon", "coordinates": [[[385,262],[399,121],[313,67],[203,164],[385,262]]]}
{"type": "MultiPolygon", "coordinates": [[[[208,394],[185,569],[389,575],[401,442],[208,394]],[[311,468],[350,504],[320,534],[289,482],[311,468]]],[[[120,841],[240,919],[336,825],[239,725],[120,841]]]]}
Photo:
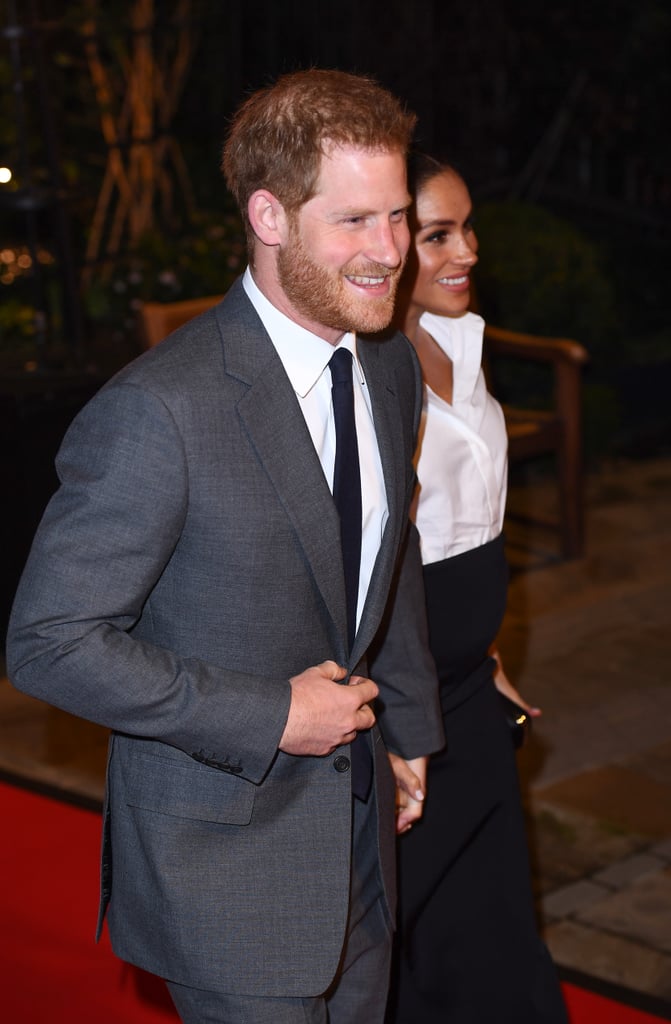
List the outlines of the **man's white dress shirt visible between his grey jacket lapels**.
{"type": "MultiPolygon", "coordinates": [[[[333,419],[329,360],[335,348],[324,338],[306,331],[280,312],[277,306],[274,306],[259,290],[249,267],[243,276],[243,287],[267,331],[296,392],[324,475],[333,494],[335,421],[333,419]]],[[[357,356],[355,335],[345,334],[336,347],[349,349],[353,356],[354,419],[361,465],[363,507],[362,560],[357,604],[357,624],[359,625],[389,511],[384,476],[382,475],[382,463],[373,424],[371,396],[357,356]]]]}

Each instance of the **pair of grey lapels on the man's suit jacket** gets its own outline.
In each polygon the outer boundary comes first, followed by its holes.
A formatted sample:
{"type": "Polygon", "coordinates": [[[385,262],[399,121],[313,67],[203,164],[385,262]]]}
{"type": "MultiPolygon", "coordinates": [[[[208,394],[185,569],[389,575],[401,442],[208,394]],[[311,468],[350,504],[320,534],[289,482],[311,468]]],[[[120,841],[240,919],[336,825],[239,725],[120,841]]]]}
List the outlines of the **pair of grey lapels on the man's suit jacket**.
{"type": "MultiPolygon", "coordinates": [[[[334,571],[334,563],[341,559],[338,514],[300,406],[242,284],[235,286],[217,307],[217,317],[225,338],[225,371],[248,385],[238,403],[239,415],[295,527],[329,614],[346,643],[343,574],[334,571]]],[[[371,395],[389,516],[351,651],[351,665],[370,645],[387,601],[406,524],[408,451],[399,408],[395,361],[385,357],[383,342],[362,339],[358,352],[371,395]]]]}

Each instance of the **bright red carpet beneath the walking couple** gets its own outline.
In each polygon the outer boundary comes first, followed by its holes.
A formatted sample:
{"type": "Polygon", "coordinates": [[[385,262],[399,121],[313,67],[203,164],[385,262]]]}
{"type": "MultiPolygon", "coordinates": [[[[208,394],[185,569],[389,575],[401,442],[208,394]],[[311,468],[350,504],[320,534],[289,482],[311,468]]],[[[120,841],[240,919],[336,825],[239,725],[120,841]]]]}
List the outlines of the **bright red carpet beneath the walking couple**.
{"type": "MultiPolygon", "coordinates": [[[[12,1024],[175,1024],[161,981],[93,941],[100,816],[0,782],[0,1015],[12,1024]]],[[[664,1019],[564,983],[571,1024],[664,1019]]]]}

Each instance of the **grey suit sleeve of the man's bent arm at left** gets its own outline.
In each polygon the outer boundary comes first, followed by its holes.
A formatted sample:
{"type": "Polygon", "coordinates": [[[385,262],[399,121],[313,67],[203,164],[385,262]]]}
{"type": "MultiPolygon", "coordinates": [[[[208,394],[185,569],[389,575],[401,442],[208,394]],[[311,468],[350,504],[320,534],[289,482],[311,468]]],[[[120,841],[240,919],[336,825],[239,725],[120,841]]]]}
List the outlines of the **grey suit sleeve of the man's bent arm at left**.
{"type": "Polygon", "coordinates": [[[160,397],[106,387],[71,426],[9,622],[7,670],[32,696],[260,781],[288,680],[232,672],[133,636],[188,505],[179,430],[160,397]]]}

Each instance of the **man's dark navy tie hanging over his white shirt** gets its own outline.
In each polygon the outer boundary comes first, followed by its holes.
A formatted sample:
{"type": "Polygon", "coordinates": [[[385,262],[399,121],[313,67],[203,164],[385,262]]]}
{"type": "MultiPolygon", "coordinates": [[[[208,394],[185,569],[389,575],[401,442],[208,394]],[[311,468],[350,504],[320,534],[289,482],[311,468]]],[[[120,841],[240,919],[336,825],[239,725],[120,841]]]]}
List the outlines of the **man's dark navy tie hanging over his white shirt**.
{"type": "MultiPolygon", "coordinates": [[[[347,641],[349,650],[357,635],[359,571],[362,556],[362,480],[354,422],[352,356],[338,348],[329,362],[333,383],[336,455],[333,471],[333,500],[340,516],[340,543],[345,573],[347,601],[347,641]]],[[[357,734],[351,744],[351,787],[360,800],[367,800],[373,778],[373,759],[365,732],[357,734]]]]}

